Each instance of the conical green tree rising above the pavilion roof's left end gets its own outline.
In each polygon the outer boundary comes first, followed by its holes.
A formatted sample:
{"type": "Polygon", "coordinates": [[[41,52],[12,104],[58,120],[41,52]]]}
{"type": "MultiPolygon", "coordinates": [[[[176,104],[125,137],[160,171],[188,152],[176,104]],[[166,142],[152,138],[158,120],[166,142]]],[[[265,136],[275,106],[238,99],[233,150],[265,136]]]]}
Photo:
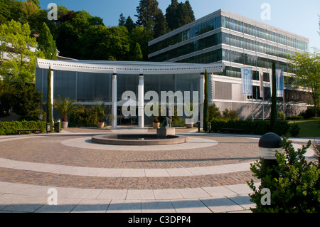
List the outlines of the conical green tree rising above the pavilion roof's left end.
{"type": "Polygon", "coordinates": [[[38,38],[38,47],[43,52],[46,59],[58,59],[57,57],[57,46],[50,33],[50,29],[43,23],[41,33],[38,38]]]}

